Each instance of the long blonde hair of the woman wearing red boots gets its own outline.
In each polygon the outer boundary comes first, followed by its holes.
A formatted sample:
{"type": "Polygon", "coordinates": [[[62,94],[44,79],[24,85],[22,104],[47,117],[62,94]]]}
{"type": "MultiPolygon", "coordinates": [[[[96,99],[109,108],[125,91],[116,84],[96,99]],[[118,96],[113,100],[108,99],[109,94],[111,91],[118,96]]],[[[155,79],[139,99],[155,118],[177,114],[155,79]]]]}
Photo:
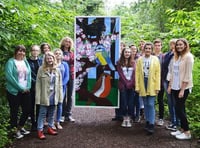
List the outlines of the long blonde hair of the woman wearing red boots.
{"type": "Polygon", "coordinates": [[[55,58],[53,52],[48,51],[45,53],[44,60],[42,62],[42,68],[44,71],[55,71],[56,70],[57,62],[56,62],[56,58],[55,58]],[[53,57],[53,66],[52,67],[49,67],[49,65],[47,64],[47,61],[46,61],[47,56],[53,57]]]}

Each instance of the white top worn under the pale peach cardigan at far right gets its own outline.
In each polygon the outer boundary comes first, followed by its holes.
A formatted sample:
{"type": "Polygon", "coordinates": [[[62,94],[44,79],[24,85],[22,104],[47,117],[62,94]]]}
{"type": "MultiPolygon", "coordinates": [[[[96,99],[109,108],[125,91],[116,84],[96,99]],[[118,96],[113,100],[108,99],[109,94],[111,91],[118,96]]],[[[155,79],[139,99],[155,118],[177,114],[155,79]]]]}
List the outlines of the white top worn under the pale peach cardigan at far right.
{"type": "Polygon", "coordinates": [[[172,89],[173,90],[180,90],[180,71],[179,71],[179,64],[180,64],[180,58],[177,61],[174,61],[173,63],[173,81],[172,81],[172,89]]]}

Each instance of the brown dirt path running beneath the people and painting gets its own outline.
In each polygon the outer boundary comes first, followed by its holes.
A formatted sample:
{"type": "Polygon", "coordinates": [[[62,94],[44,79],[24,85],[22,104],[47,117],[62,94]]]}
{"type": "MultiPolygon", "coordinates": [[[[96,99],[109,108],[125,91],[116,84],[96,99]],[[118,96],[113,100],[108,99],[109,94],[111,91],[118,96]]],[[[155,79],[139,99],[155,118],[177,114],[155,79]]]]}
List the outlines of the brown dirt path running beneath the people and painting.
{"type": "Polygon", "coordinates": [[[111,121],[114,109],[74,108],[75,123],[63,123],[57,136],[46,134],[39,140],[31,133],[14,142],[12,148],[200,148],[195,140],[178,141],[164,127],[157,127],[155,134],[147,136],[142,123],[132,128],[120,127],[111,121]]]}

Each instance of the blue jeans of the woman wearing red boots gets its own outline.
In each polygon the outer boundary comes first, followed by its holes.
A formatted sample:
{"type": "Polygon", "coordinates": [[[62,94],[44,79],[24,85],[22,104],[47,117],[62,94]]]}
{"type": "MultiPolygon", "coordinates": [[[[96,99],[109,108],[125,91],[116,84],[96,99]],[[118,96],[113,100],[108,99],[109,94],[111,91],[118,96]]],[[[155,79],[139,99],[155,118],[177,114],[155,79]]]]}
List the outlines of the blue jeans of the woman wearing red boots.
{"type": "Polygon", "coordinates": [[[52,128],[54,125],[54,113],[55,113],[55,105],[50,106],[44,106],[40,105],[39,115],[38,115],[38,123],[37,123],[37,129],[43,130],[44,128],[44,120],[47,115],[47,122],[48,127],[52,128]],[[48,112],[48,114],[47,114],[48,112]]]}

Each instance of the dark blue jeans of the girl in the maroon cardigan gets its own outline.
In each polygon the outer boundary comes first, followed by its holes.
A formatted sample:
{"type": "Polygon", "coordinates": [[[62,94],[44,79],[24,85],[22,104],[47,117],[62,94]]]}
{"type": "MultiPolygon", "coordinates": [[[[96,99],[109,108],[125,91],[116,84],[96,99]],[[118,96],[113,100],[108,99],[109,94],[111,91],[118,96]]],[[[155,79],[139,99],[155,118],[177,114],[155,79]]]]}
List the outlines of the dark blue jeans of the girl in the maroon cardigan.
{"type": "Polygon", "coordinates": [[[123,116],[134,117],[134,90],[120,90],[120,106],[123,116]]]}

